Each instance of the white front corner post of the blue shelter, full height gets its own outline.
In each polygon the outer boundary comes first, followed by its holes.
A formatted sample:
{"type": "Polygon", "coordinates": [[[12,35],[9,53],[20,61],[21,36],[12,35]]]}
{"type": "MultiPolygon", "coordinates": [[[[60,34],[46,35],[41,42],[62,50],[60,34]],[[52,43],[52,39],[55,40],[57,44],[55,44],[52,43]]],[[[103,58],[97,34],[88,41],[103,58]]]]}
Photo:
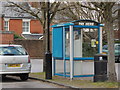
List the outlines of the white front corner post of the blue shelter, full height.
{"type": "Polygon", "coordinates": [[[70,79],[73,79],[73,57],[74,57],[74,43],[73,43],[73,26],[70,26],[70,79]]]}

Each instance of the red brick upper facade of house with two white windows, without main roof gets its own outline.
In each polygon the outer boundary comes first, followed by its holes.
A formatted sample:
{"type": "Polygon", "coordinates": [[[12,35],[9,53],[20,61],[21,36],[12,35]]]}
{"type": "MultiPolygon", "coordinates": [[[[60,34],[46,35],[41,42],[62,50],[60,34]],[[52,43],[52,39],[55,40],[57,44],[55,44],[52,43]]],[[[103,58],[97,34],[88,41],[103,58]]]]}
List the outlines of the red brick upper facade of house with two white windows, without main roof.
{"type": "Polygon", "coordinates": [[[1,15],[1,30],[14,31],[15,34],[25,39],[39,39],[43,35],[43,29],[34,17],[11,17],[1,15]]]}

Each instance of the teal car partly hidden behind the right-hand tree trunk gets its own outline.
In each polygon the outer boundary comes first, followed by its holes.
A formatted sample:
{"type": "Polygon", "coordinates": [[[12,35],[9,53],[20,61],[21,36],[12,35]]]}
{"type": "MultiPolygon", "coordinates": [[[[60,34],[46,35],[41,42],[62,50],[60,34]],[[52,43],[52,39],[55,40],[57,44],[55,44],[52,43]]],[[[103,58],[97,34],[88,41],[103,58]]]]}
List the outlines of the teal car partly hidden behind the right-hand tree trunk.
{"type": "MultiPolygon", "coordinates": [[[[116,43],[115,45],[115,60],[116,62],[120,62],[120,43],[116,43]]],[[[103,54],[107,54],[108,53],[108,45],[104,45],[103,46],[103,50],[102,50],[103,54]]]]}

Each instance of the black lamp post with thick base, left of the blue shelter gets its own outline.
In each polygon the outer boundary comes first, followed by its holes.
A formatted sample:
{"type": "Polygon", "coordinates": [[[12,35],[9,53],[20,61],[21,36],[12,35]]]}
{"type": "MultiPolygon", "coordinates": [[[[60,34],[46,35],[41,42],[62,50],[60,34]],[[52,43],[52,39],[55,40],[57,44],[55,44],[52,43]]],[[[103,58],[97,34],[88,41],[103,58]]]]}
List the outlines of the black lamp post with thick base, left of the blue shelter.
{"type": "Polygon", "coordinates": [[[47,2],[47,33],[46,33],[46,53],[45,53],[45,60],[46,60],[46,79],[52,79],[52,54],[50,52],[50,2],[47,2]]]}

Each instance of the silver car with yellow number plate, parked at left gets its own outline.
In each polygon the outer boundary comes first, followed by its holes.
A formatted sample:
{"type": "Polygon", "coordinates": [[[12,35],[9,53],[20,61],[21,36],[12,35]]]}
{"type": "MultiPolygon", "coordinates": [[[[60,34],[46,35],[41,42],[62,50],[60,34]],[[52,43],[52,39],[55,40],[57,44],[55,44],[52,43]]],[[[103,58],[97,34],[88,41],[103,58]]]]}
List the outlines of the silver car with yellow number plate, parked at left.
{"type": "Polygon", "coordinates": [[[0,45],[0,75],[17,75],[28,79],[31,71],[30,56],[21,45],[0,45]]]}

